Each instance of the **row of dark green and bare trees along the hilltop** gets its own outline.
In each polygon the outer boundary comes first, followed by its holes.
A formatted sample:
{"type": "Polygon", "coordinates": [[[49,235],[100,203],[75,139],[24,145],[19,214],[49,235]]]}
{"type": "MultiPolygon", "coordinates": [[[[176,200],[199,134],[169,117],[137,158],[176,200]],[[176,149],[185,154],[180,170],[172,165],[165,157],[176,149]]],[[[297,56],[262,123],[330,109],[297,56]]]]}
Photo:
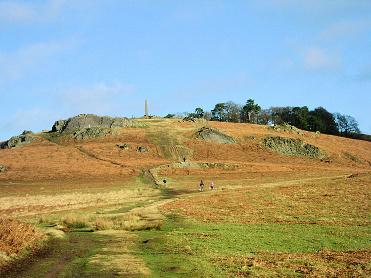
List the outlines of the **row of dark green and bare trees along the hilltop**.
{"type": "Polygon", "coordinates": [[[204,118],[208,121],[259,125],[287,123],[301,130],[319,131],[324,134],[370,140],[370,138],[361,135],[359,124],[355,118],[349,115],[342,115],[339,112],[330,113],[321,106],[314,110],[309,110],[307,106],[261,109],[260,105],[255,104],[254,99],[248,99],[245,105],[227,101],[217,103],[211,111],[204,111],[202,108],[197,107],[193,113],[178,112],[176,114],[168,114],[165,117],[172,118],[174,116],[190,116],[204,118]]]}

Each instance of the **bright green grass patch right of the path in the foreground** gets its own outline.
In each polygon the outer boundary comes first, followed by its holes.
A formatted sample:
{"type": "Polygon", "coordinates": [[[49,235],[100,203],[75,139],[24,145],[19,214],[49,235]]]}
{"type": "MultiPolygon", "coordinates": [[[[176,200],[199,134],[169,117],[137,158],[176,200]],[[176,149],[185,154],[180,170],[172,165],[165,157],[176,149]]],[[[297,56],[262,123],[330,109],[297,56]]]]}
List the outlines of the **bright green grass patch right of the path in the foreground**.
{"type": "MultiPolygon", "coordinates": [[[[363,226],[180,222],[181,225],[179,221],[169,220],[161,231],[136,232],[139,247],[134,253],[147,261],[152,277],[228,277],[231,273],[244,272],[238,265],[223,266],[218,259],[226,256],[370,248],[371,230],[363,226]]],[[[248,272],[253,276],[270,275],[268,269],[260,269],[259,265],[252,265],[248,272]]],[[[294,276],[289,269],[282,268],[281,272],[283,276],[294,276]]]]}

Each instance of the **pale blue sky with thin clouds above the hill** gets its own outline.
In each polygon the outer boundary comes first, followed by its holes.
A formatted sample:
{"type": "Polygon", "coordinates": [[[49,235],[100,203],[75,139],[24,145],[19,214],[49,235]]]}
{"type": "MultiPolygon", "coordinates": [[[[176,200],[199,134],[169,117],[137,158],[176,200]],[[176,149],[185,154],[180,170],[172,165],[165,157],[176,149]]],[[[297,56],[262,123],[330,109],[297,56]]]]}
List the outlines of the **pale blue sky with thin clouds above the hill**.
{"type": "Polygon", "coordinates": [[[78,114],[324,107],[371,134],[370,0],[0,0],[0,141],[78,114]]]}

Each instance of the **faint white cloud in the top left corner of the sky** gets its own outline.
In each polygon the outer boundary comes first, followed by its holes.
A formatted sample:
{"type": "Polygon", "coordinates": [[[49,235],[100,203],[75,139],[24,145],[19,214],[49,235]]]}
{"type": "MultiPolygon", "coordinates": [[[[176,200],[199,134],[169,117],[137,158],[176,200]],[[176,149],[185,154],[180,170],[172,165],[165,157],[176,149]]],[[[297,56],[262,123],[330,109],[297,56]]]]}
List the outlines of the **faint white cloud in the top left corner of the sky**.
{"type": "Polygon", "coordinates": [[[55,18],[62,10],[64,0],[51,0],[46,4],[38,2],[1,1],[0,21],[40,22],[55,18]]]}

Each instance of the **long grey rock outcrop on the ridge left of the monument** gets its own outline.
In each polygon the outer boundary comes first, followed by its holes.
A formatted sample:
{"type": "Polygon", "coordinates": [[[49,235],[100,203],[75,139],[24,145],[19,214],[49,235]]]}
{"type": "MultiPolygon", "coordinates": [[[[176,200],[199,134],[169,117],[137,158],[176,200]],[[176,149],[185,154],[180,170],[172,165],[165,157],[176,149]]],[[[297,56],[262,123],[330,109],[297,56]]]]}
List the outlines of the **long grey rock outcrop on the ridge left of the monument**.
{"type": "Polygon", "coordinates": [[[102,127],[110,129],[122,129],[125,127],[142,126],[137,120],[124,117],[112,118],[109,116],[96,116],[93,114],[80,114],[67,120],[56,121],[51,128],[52,132],[66,132],[78,128],[102,127]]]}

